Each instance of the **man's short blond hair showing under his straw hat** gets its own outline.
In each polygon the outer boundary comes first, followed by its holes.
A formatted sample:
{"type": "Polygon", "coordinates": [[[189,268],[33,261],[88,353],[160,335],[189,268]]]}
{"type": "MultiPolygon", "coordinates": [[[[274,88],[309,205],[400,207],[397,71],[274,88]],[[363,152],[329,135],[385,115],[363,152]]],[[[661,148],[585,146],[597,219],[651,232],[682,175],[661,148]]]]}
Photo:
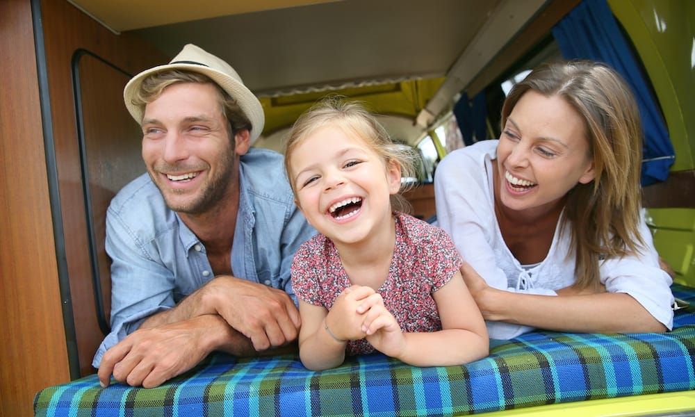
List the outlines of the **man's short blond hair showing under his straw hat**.
{"type": "Polygon", "coordinates": [[[234,141],[234,133],[241,130],[251,131],[251,121],[246,117],[243,110],[239,106],[238,102],[234,97],[231,97],[226,91],[220,88],[220,85],[215,83],[212,79],[199,72],[187,71],[187,70],[167,70],[162,72],[156,72],[150,76],[147,76],[142,83],[140,83],[140,88],[136,90],[131,103],[142,109],[142,114],[145,114],[145,105],[156,100],[162,95],[165,88],[170,85],[177,83],[199,83],[199,84],[212,84],[215,86],[215,90],[218,92],[218,104],[220,105],[220,110],[222,114],[227,118],[229,123],[229,136],[234,141]]]}

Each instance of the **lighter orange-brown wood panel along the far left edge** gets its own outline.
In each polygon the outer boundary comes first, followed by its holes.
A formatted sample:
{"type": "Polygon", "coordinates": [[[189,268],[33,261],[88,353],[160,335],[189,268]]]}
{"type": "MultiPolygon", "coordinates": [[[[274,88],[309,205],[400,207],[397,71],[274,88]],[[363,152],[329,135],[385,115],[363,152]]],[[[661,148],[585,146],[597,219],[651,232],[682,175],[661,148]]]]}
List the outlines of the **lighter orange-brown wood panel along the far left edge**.
{"type": "Polygon", "coordinates": [[[26,0],[0,1],[0,56],[0,416],[31,416],[70,373],[26,0]]]}

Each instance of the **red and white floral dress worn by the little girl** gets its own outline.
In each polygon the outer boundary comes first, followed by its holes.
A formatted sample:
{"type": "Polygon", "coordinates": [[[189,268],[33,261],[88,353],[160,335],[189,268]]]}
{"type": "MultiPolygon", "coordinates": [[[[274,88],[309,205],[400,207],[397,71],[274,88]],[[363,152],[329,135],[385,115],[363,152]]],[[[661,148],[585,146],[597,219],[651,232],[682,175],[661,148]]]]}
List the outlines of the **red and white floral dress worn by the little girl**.
{"type": "MultiPolygon", "coordinates": [[[[389,277],[377,291],[403,332],[435,332],[441,320],[432,297],[461,266],[451,238],[439,227],[404,213],[394,213],[395,248],[389,277]]],[[[307,240],[292,262],[295,295],[309,304],[331,309],[351,286],[338,250],[323,235],[307,240]]],[[[374,352],[366,339],[347,342],[347,354],[374,352]]]]}

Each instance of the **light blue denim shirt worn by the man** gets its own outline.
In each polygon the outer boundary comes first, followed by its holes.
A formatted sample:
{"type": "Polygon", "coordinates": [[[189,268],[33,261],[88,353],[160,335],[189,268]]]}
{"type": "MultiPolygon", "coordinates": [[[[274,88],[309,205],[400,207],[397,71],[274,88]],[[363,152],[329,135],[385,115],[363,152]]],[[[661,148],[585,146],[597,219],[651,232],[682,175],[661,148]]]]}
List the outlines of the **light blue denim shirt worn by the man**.
{"type": "MultiPolygon", "coordinates": [[[[239,167],[239,208],[231,268],[235,277],[279,288],[295,297],[292,257],[316,234],[294,204],[282,156],[249,149],[239,167]]],[[[111,257],[111,333],[101,342],[96,368],[110,347],[154,313],[171,309],[213,279],[205,247],[167,207],[149,174],[127,184],[106,213],[111,257]]]]}

